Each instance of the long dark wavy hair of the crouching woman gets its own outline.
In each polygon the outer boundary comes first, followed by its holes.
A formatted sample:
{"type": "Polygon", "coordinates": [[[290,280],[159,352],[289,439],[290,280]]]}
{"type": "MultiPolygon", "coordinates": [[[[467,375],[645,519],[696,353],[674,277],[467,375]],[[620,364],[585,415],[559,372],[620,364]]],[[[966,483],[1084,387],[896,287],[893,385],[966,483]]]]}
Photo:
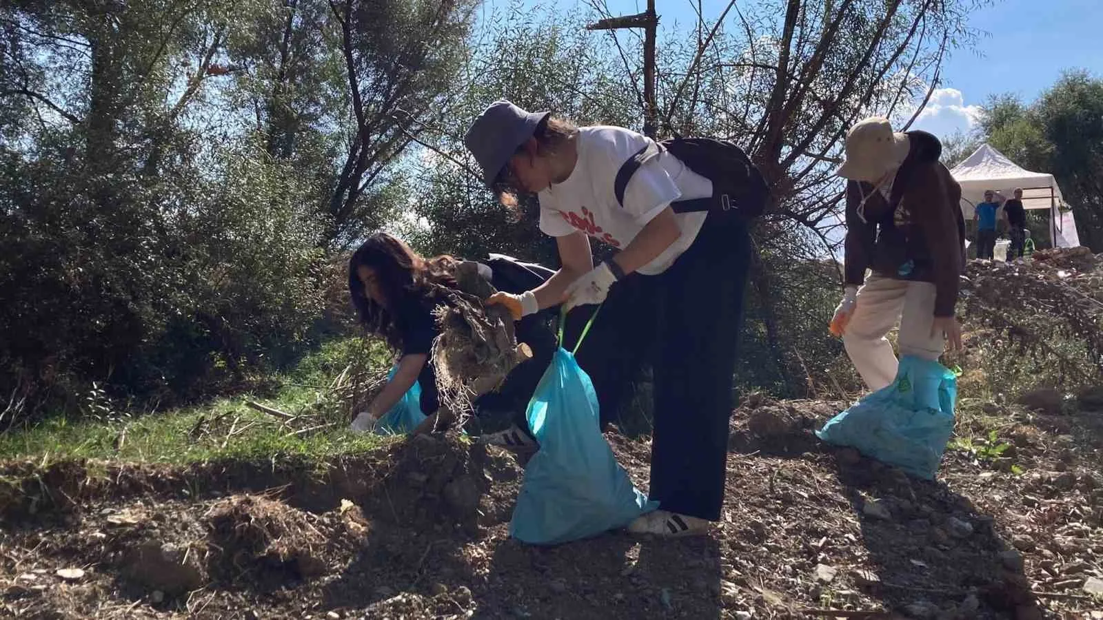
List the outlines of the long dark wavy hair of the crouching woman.
{"type": "Polygon", "coordinates": [[[442,287],[456,288],[457,260],[451,256],[426,259],[387,233],[375,233],[349,259],[349,295],[370,333],[383,336],[395,350],[403,348],[406,312],[431,311],[442,302],[442,287]],[[376,303],[364,289],[357,269],[375,270],[379,292],[386,303],[376,303]]]}

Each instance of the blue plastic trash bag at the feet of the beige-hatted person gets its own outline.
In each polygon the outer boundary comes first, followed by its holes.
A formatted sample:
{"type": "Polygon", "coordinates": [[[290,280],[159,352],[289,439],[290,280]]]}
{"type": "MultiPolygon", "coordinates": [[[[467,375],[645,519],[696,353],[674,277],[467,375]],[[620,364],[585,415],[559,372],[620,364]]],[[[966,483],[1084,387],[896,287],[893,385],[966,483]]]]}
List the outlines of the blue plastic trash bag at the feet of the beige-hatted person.
{"type": "Polygon", "coordinates": [[[938,362],[900,359],[896,381],[835,416],[816,437],[933,480],[954,430],[957,378],[938,362]]]}

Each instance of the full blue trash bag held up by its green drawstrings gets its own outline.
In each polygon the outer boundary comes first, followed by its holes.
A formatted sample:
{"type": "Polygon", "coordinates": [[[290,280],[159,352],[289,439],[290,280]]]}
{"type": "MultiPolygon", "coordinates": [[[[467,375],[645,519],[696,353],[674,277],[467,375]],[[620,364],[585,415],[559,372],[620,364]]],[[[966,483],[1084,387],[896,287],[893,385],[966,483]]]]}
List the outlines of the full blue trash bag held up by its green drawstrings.
{"type": "MultiPolygon", "coordinates": [[[[586,331],[589,324],[579,343],[586,331]]],[[[556,351],[526,417],[540,449],[525,468],[512,536],[534,545],[567,543],[623,527],[657,507],[635,489],[601,435],[593,384],[572,353],[556,351]]]]}

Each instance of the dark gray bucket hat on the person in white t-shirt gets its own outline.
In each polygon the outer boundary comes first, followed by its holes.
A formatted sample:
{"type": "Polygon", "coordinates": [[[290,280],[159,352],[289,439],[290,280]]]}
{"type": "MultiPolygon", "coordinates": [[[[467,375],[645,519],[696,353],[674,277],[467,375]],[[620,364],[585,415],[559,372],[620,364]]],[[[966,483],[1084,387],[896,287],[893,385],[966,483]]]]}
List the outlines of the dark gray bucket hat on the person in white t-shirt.
{"type": "Polygon", "coordinates": [[[550,114],[525,111],[505,99],[499,99],[475,118],[463,137],[463,143],[479,162],[486,186],[493,186],[494,179],[517,147],[532,138],[536,127],[550,114]]]}

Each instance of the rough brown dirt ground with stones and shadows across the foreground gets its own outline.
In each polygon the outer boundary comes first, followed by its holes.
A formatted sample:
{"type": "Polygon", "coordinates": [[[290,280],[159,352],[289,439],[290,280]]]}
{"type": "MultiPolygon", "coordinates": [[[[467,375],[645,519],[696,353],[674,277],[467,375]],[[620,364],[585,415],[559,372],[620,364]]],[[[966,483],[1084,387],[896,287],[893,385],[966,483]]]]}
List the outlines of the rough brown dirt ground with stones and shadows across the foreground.
{"type": "MultiPolygon", "coordinates": [[[[324,471],[4,463],[0,616],[1103,618],[1103,413],[1040,406],[992,404],[1011,448],[928,482],[818,443],[843,403],[751,398],[709,536],[550,548],[508,537],[516,456],[460,437],[324,471]]],[[[608,437],[645,487],[647,443],[608,437]]]]}

